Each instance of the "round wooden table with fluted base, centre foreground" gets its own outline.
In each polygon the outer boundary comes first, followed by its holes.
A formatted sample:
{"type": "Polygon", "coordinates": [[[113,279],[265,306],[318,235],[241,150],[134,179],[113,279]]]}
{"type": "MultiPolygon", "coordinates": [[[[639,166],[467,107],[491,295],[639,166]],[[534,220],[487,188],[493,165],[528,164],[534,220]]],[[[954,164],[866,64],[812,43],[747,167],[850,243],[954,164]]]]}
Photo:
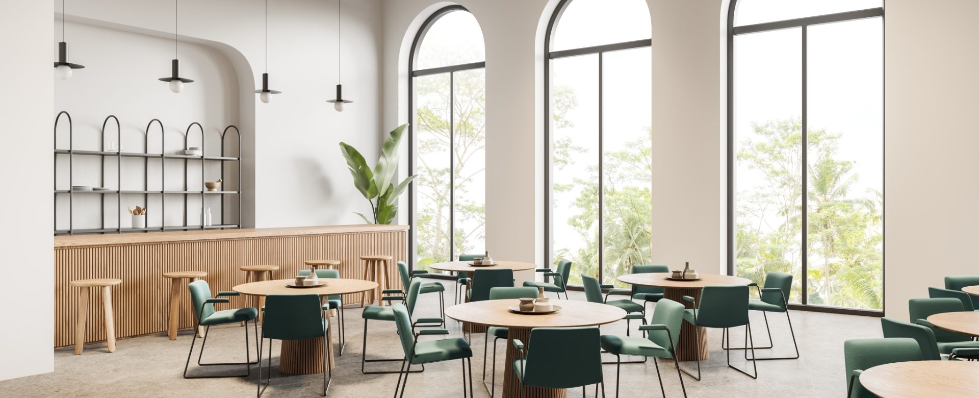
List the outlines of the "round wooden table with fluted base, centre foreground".
{"type": "MultiPolygon", "coordinates": [[[[614,323],[626,318],[626,311],[618,307],[600,303],[589,303],[577,300],[551,300],[562,309],[548,315],[522,315],[511,313],[507,307],[519,304],[520,300],[485,300],[473,301],[455,305],[445,309],[445,316],[463,323],[474,323],[484,326],[504,326],[510,329],[506,341],[506,360],[503,361],[503,396],[510,396],[510,385],[517,382],[513,377],[513,360],[518,351],[513,347],[513,340],[524,342],[526,350],[531,349],[531,329],[534,327],[573,327],[593,326],[614,323]]],[[[518,391],[519,391],[518,384],[518,391]]],[[[529,397],[567,397],[568,392],[563,388],[530,387],[529,397]]]]}

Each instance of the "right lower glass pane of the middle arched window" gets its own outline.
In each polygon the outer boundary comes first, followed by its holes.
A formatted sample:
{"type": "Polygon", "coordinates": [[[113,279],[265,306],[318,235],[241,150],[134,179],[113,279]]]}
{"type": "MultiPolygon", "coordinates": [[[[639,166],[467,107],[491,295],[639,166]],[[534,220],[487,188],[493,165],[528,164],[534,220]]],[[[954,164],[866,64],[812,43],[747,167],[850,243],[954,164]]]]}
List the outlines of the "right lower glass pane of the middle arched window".
{"type": "Polygon", "coordinates": [[[652,55],[641,47],[602,57],[602,283],[625,286],[616,277],[650,262],[652,55]]]}

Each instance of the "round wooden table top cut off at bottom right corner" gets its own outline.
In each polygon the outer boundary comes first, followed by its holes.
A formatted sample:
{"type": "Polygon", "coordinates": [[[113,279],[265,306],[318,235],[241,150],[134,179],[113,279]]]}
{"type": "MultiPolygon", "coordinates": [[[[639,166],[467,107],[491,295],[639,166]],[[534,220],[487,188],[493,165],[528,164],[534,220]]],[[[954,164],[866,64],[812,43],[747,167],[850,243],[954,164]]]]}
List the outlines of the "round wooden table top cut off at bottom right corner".
{"type": "Polygon", "coordinates": [[[965,361],[911,361],[880,365],[860,376],[884,398],[979,396],[979,365],[965,361]]]}

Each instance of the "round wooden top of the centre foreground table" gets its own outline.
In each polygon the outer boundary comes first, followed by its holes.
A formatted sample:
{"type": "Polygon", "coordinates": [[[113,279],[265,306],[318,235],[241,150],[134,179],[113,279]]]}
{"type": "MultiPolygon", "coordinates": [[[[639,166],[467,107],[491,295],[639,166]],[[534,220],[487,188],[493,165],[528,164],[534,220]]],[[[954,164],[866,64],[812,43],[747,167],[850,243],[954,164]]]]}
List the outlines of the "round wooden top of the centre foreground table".
{"type": "Polygon", "coordinates": [[[626,318],[626,311],[607,304],[581,300],[550,300],[561,311],[547,315],[511,313],[507,307],[518,299],[471,301],[445,309],[445,316],[460,322],[506,327],[572,327],[614,323],[626,318]]]}

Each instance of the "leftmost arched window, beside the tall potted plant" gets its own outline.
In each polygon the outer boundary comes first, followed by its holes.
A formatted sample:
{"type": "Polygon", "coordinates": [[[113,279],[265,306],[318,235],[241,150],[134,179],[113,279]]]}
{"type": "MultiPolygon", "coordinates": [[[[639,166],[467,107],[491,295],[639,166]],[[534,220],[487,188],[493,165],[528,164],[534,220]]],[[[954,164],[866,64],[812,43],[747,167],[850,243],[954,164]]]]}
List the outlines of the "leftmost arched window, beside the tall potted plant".
{"type": "Polygon", "coordinates": [[[408,208],[420,270],[486,247],[485,59],[480,25],[461,6],[436,12],[412,44],[408,208]]]}

